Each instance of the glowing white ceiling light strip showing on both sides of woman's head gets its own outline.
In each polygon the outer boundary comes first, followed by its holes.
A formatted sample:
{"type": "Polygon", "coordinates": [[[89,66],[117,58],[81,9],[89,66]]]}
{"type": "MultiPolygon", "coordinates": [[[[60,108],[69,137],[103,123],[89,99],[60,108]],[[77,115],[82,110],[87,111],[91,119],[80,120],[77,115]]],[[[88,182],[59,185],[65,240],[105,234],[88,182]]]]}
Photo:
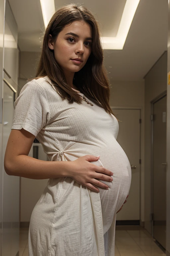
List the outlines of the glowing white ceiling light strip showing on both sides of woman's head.
{"type": "MultiPolygon", "coordinates": [[[[45,29],[55,13],[54,0],[40,0],[45,29]]],[[[123,50],[140,0],[127,0],[116,37],[101,37],[103,49],[123,50]]]]}

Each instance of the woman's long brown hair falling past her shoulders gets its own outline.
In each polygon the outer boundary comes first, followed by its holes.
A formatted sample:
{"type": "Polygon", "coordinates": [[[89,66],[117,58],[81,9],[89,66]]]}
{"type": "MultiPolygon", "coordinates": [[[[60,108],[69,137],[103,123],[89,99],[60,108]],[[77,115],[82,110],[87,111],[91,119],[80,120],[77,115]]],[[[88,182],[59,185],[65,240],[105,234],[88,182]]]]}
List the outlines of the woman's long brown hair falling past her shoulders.
{"type": "Polygon", "coordinates": [[[55,84],[57,92],[63,99],[66,98],[70,104],[73,102],[82,103],[80,95],[68,85],[61,66],[54,58],[54,51],[48,47],[49,35],[52,36],[53,40],[56,40],[64,26],[71,24],[73,21],[84,21],[88,23],[92,28],[93,36],[92,52],[84,67],[74,73],[73,84],[80,91],[86,92],[87,95],[102,104],[107,113],[112,113],[115,116],[109,104],[110,85],[107,76],[108,73],[103,63],[104,53],[100,39],[99,25],[93,14],[81,4],[71,3],[64,5],[53,14],[43,36],[40,61],[36,77],[33,79],[47,75],[55,84]]]}

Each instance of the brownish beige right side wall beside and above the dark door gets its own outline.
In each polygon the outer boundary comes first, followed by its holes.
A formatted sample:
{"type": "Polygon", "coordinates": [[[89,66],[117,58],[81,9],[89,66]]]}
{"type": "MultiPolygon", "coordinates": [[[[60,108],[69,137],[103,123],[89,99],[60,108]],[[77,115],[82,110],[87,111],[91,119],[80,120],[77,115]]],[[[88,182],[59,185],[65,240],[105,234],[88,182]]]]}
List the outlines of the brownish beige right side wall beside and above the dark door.
{"type": "Polygon", "coordinates": [[[167,89],[167,52],[145,77],[145,228],[151,234],[151,101],[167,89]]]}

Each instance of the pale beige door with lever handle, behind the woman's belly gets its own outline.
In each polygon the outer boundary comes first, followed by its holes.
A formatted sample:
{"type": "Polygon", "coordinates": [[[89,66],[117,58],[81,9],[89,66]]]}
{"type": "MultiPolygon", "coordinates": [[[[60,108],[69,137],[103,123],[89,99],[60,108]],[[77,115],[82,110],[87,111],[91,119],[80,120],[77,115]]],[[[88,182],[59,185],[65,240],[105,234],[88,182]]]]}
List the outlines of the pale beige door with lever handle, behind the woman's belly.
{"type": "Polygon", "coordinates": [[[131,165],[131,186],[127,203],[117,214],[117,220],[140,222],[140,109],[113,109],[119,122],[118,143],[125,151],[131,165]]]}

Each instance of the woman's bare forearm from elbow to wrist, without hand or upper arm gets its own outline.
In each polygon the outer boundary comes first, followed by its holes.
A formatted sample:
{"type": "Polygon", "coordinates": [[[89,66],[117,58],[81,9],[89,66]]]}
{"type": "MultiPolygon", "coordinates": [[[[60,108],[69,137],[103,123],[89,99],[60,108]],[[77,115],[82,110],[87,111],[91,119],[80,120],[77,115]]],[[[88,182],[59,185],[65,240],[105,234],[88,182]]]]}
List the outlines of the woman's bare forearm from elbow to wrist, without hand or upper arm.
{"type": "Polygon", "coordinates": [[[5,171],[8,175],[29,179],[70,177],[69,164],[69,161],[43,161],[27,155],[18,155],[5,171]]]}

